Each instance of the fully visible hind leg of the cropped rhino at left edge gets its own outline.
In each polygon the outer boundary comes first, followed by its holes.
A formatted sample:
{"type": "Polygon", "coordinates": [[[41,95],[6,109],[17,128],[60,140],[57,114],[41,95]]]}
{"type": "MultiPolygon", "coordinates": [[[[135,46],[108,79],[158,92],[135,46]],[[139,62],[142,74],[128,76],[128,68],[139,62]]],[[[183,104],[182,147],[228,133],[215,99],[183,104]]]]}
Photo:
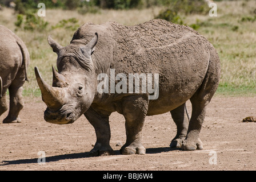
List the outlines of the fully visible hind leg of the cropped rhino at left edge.
{"type": "MultiPolygon", "coordinates": [[[[22,83],[23,85],[23,83],[22,83]]],[[[24,102],[22,97],[22,86],[10,85],[10,109],[7,117],[3,119],[3,123],[20,123],[19,111],[23,109],[24,102]]]]}

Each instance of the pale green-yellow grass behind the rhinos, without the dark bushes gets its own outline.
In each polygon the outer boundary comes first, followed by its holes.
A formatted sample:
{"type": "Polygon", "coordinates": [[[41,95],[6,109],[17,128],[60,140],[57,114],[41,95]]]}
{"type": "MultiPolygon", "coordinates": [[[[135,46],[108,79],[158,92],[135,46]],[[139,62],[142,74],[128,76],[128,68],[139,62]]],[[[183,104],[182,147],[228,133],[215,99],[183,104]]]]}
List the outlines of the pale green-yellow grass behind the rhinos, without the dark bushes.
{"type": "MultiPolygon", "coordinates": [[[[256,2],[250,1],[215,1],[218,16],[205,14],[181,15],[183,23],[194,24],[197,31],[205,36],[217,49],[221,59],[221,82],[217,95],[256,96],[256,2]]],[[[34,76],[34,67],[38,66],[46,82],[51,84],[51,65],[56,65],[57,55],[47,43],[47,36],[57,40],[62,46],[69,44],[74,30],[58,26],[64,20],[75,18],[74,26],[86,22],[95,24],[116,21],[131,25],[153,19],[161,7],[132,10],[100,10],[96,14],[81,15],[77,11],[47,10],[43,20],[49,22],[44,31],[15,31],[30,52],[29,82],[26,82],[25,97],[39,97],[40,90],[34,76]],[[55,27],[55,28],[51,28],[55,27]]],[[[210,10],[210,8],[209,8],[210,10]]],[[[17,15],[13,10],[0,11],[0,24],[15,30],[17,15]]],[[[71,23],[71,22],[70,22],[71,23]]],[[[62,24],[61,24],[62,25],[62,24]]],[[[69,26],[70,27],[70,26],[69,26]]]]}

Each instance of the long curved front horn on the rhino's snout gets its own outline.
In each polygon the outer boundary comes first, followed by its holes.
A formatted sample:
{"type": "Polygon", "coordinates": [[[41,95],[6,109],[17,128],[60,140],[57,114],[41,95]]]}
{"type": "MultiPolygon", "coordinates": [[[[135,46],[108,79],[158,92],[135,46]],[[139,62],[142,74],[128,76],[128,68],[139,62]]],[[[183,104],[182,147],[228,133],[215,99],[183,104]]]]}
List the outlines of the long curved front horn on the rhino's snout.
{"type": "Polygon", "coordinates": [[[35,77],[42,93],[42,100],[50,109],[58,110],[63,106],[64,93],[62,88],[52,87],[43,81],[38,68],[35,67],[35,77]]]}

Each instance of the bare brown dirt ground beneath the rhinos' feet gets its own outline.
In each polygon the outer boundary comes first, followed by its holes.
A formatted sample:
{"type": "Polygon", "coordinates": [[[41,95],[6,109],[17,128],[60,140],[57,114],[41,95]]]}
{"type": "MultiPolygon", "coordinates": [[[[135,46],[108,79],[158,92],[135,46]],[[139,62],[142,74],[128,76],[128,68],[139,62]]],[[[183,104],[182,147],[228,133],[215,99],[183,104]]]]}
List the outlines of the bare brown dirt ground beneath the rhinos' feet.
{"type": "MultiPolygon", "coordinates": [[[[3,124],[7,113],[0,117],[0,170],[255,170],[256,122],[242,122],[256,115],[255,101],[256,97],[214,97],[201,130],[204,148],[197,151],[169,147],[176,127],[165,113],[146,117],[146,155],[121,155],[117,145],[125,143],[125,120],[113,113],[110,144],[116,155],[88,157],[96,138],[84,116],[71,125],[47,123],[41,98],[25,98],[22,123],[3,124]],[[38,152],[45,154],[44,164],[38,163],[38,152]]],[[[190,102],[187,105],[191,113],[190,102]]]]}

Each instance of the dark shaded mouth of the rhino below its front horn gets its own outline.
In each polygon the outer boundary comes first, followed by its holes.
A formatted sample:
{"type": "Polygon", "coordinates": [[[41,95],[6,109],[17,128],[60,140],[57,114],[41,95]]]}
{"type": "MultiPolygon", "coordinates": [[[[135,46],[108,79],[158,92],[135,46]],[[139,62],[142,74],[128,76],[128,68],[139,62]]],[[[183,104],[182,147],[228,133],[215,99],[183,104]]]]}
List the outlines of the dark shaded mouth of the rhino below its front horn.
{"type": "Polygon", "coordinates": [[[74,113],[71,111],[52,111],[47,107],[44,113],[44,119],[46,122],[65,125],[71,124],[75,121],[74,113]]]}

